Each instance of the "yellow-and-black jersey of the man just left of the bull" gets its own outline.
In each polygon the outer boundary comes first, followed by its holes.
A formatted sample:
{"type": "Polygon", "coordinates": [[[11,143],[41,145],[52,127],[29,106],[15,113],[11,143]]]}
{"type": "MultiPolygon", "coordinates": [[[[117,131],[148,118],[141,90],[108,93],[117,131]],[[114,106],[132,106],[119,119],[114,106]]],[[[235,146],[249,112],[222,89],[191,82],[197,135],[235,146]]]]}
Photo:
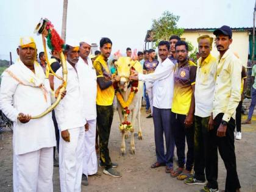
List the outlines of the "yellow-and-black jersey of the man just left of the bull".
{"type": "MultiPolygon", "coordinates": [[[[99,55],[93,63],[93,67],[96,70],[97,78],[104,77],[104,80],[110,80],[111,73],[108,68],[107,62],[104,60],[102,55],[99,55]]],[[[101,90],[99,84],[97,83],[97,105],[108,106],[113,104],[113,99],[115,97],[115,90],[112,85],[110,87],[101,90]]]]}

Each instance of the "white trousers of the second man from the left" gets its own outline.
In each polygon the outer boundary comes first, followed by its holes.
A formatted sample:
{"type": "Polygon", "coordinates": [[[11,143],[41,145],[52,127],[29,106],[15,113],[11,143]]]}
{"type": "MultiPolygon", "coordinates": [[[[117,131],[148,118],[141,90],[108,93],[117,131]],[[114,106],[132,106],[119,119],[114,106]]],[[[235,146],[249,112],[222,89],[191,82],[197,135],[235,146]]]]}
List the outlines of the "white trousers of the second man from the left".
{"type": "Polygon", "coordinates": [[[81,191],[85,127],[68,129],[68,132],[70,142],[60,137],[60,190],[76,192],[81,191]]]}

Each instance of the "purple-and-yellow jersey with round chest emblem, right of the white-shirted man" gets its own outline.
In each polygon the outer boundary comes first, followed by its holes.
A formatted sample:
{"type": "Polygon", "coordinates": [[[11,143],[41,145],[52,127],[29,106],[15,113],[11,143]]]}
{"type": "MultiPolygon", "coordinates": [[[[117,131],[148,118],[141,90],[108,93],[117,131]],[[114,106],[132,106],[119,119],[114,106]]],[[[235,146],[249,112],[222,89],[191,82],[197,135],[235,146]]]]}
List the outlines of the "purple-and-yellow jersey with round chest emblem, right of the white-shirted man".
{"type": "Polygon", "coordinates": [[[187,115],[192,98],[192,85],[196,81],[196,64],[190,60],[183,66],[176,63],[174,71],[174,93],[171,111],[187,115]]]}

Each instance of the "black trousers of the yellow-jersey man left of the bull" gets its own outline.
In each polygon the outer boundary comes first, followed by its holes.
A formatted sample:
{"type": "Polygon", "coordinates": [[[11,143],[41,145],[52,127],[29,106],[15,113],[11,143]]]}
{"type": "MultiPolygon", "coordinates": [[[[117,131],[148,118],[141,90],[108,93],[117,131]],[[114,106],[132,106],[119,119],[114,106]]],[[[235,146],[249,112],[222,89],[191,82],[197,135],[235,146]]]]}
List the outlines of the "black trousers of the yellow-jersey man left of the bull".
{"type": "Polygon", "coordinates": [[[110,129],[113,121],[113,105],[102,106],[96,105],[97,108],[97,125],[99,133],[99,155],[101,163],[106,169],[112,168],[112,162],[109,156],[108,140],[110,129]]]}

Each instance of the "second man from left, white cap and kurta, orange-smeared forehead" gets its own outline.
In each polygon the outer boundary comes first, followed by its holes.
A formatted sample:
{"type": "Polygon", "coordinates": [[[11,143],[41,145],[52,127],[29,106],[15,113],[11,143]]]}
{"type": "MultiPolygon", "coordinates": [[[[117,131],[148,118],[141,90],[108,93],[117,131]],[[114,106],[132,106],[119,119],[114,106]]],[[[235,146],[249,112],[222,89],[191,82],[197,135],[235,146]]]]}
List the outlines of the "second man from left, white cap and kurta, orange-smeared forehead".
{"type": "MultiPolygon", "coordinates": [[[[66,96],[55,108],[55,116],[60,130],[60,190],[81,191],[82,160],[84,152],[84,135],[86,119],[82,99],[82,76],[77,62],[79,60],[79,43],[69,40],[66,43],[68,82],[66,96]]],[[[62,67],[57,70],[62,76],[62,67]]],[[[62,80],[54,78],[54,88],[62,80]]]]}

